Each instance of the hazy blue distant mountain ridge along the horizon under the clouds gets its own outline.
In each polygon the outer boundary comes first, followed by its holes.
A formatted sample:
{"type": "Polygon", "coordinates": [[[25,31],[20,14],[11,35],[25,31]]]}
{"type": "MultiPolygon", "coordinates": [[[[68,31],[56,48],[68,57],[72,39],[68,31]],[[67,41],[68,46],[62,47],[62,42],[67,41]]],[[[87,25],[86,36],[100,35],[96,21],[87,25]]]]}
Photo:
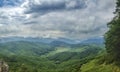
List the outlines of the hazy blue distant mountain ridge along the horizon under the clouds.
{"type": "Polygon", "coordinates": [[[104,38],[103,37],[96,37],[96,38],[89,38],[86,40],[72,40],[67,38],[33,38],[33,37],[4,37],[0,38],[0,43],[6,42],[15,42],[15,41],[27,41],[27,42],[40,42],[46,44],[103,44],[104,38]]]}

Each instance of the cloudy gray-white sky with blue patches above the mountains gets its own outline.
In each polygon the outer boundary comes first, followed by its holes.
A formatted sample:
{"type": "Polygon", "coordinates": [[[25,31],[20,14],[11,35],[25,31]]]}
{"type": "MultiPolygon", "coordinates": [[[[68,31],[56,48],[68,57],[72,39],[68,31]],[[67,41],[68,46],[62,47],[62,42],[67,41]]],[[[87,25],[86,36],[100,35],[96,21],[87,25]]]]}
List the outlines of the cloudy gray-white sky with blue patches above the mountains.
{"type": "Polygon", "coordinates": [[[0,37],[101,37],[115,0],[0,0],[0,37]]]}

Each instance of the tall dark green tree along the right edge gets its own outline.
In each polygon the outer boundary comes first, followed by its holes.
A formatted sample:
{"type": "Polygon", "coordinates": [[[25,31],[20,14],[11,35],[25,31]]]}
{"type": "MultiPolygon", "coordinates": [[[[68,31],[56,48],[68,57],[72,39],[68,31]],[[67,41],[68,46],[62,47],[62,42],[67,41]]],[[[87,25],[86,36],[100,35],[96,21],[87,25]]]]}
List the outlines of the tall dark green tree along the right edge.
{"type": "Polygon", "coordinates": [[[113,61],[120,61],[120,0],[116,2],[116,16],[108,24],[109,31],[105,34],[106,50],[113,61]]]}

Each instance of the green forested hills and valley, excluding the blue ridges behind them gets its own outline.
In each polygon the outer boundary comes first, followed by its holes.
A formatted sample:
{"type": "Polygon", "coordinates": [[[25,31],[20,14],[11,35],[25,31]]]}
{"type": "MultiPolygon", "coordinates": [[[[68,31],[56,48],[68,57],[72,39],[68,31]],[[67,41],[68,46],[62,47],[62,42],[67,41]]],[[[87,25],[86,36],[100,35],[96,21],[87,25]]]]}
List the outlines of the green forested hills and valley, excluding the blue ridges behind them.
{"type": "Polygon", "coordinates": [[[10,66],[9,72],[80,72],[103,46],[58,46],[31,42],[0,44],[0,59],[10,66]]]}

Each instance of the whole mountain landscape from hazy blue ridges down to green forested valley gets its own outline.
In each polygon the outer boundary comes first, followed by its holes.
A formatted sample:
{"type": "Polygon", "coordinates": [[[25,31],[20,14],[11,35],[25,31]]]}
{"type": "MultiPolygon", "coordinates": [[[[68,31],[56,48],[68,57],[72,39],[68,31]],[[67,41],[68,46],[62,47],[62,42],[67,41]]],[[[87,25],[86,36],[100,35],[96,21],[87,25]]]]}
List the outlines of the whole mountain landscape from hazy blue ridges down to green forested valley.
{"type": "Polygon", "coordinates": [[[0,38],[0,59],[8,63],[9,72],[81,72],[81,66],[102,50],[102,37],[86,40],[0,38]]]}

